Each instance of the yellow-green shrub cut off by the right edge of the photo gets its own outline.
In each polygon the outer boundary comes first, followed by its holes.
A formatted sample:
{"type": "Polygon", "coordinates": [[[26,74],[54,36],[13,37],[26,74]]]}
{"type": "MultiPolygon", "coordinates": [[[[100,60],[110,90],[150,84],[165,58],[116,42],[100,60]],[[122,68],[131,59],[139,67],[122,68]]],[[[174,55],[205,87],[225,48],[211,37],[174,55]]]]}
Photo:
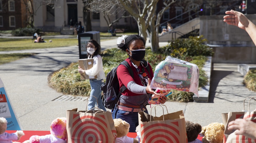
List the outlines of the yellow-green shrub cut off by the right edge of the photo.
{"type": "Polygon", "coordinates": [[[249,70],[246,73],[244,83],[249,90],[256,92],[256,69],[249,70]]]}

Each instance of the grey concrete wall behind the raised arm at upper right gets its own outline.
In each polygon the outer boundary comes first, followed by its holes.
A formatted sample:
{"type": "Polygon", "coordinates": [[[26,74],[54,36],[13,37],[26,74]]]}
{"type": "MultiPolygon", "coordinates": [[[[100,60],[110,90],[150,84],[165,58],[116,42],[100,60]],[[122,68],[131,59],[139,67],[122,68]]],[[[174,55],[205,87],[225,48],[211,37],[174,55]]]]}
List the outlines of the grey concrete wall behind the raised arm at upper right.
{"type": "MultiPolygon", "coordinates": [[[[208,39],[207,44],[218,44],[232,46],[254,45],[251,38],[245,30],[234,25],[223,22],[224,15],[201,16],[200,17],[200,35],[208,39]]],[[[253,23],[256,23],[256,15],[246,15],[253,23]]]]}

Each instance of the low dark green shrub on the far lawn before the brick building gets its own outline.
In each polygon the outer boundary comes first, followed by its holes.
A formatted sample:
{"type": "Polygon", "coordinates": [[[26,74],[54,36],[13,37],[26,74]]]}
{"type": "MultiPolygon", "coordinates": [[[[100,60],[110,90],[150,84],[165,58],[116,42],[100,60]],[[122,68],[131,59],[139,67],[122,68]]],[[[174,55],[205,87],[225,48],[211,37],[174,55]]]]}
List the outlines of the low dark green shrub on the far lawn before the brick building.
{"type": "Polygon", "coordinates": [[[33,36],[34,33],[39,33],[41,29],[39,28],[18,28],[11,31],[13,36],[33,36]]]}

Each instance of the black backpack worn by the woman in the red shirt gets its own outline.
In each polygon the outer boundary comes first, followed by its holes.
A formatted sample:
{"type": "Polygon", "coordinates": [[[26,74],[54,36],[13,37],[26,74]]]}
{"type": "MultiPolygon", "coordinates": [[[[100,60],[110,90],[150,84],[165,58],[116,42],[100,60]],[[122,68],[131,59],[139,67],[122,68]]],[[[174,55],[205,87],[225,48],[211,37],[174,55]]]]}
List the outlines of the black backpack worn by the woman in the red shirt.
{"type": "MultiPolygon", "coordinates": [[[[147,66],[147,61],[142,60],[144,62],[144,66],[147,66]]],[[[133,78],[133,72],[131,66],[127,61],[121,62],[119,65],[124,65],[127,67],[131,77],[133,78]]],[[[117,66],[118,67],[118,66],[117,66]]],[[[108,109],[113,109],[115,104],[117,104],[121,93],[125,91],[127,88],[122,86],[119,91],[119,81],[117,78],[117,67],[114,67],[106,76],[106,82],[101,85],[101,91],[103,91],[103,95],[101,96],[103,105],[108,109]]],[[[150,74],[149,66],[146,67],[150,74]]]]}

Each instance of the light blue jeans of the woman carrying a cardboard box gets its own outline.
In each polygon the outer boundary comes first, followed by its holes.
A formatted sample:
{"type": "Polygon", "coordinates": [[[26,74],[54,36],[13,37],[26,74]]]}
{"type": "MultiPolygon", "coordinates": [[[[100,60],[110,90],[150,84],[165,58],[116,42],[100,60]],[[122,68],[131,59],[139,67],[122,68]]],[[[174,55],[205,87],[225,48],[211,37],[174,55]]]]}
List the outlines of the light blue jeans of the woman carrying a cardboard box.
{"type": "Polygon", "coordinates": [[[103,80],[90,79],[90,84],[91,84],[91,94],[90,94],[88,109],[91,110],[91,108],[94,108],[95,104],[97,104],[96,103],[96,100],[97,100],[98,108],[104,111],[107,111],[106,108],[103,106],[102,99],[101,99],[101,85],[103,84],[103,80]]]}

